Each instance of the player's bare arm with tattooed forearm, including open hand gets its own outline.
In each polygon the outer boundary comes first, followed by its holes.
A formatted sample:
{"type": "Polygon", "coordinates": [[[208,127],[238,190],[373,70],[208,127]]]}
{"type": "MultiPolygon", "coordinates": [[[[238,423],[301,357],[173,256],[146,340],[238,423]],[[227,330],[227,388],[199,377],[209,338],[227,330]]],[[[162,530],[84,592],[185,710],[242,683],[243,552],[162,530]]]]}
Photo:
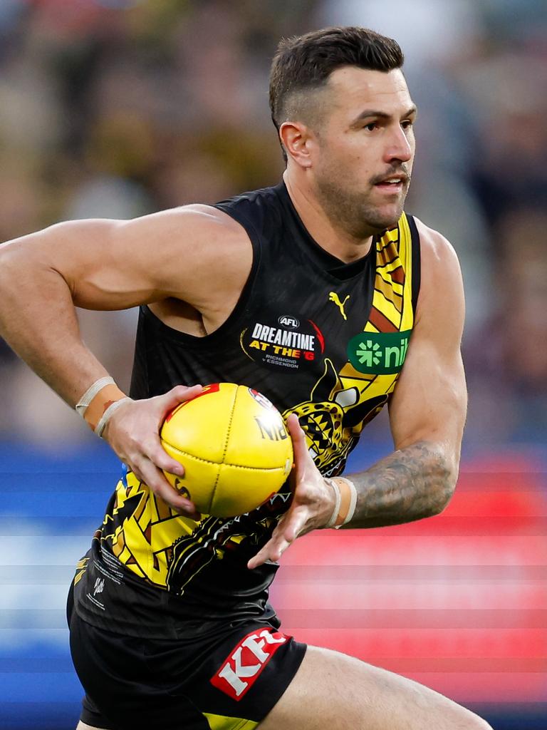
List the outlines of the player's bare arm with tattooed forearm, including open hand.
{"type": "MultiPolygon", "coordinates": [[[[419,223],[419,222],[418,222],[419,223]]],[[[465,314],[462,277],[454,250],[419,223],[422,285],[405,366],[389,404],[395,452],[365,472],[349,475],[357,504],[346,527],[394,525],[436,515],[456,485],[467,392],[460,343],[465,314]]],[[[335,505],[333,488],[306,448],[290,416],[295,447],[295,495],[270,541],[249,561],[277,561],[299,535],[324,527],[335,505]]]]}

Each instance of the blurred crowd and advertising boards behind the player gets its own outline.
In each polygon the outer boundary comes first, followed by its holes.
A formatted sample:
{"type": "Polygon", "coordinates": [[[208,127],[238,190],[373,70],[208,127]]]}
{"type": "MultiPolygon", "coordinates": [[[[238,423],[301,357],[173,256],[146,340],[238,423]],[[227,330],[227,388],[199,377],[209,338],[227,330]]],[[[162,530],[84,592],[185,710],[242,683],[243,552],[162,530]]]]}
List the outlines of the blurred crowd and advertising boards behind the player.
{"type": "MultiPolygon", "coordinates": [[[[547,6],[544,0],[1,0],[0,240],[275,184],[280,37],[395,37],[419,107],[406,210],[456,248],[468,301],[462,478],[435,520],[312,534],[284,630],[547,726],[547,6]],[[313,558],[310,558],[313,556],[313,558]]],[[[183,232],[182,232],[183,234],[183,232]]],[[[79,312],[128,387],[136,312],[79,312]]],[[[0,729],[68,730],[63,616],[119,464],[0,340],[0,729]]],[[[350,469],[391,447],[385,418],[350,469]]]]}

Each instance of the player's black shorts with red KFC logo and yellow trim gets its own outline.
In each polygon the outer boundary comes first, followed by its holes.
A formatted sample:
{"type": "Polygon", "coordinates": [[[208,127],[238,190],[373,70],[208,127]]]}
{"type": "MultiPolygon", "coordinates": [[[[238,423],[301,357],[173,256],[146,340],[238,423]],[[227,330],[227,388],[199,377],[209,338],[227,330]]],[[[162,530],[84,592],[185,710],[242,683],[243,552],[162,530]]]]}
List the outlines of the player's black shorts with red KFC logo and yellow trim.
{"type": "Polygon", "coordinates": [[[306,645],[267,621],[199,639],[98,629],[69,599],[70,648],[85,688],[81,720],[107,730],[252,730],[294,677],[306,645]]]}

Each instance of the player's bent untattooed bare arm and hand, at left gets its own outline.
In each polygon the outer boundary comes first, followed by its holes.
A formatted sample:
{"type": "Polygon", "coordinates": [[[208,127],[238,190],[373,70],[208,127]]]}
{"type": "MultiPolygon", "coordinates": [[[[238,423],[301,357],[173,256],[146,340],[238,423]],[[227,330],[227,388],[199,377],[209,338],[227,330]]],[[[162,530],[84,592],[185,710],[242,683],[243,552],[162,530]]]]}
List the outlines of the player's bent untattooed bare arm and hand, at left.
{"type": "MultiPolygon", "coordinates": [[[[121,310],[181,299],[212,331],[236,304],[251,260],[241,227],[205,206],[135,220],[59,223],[0,247],[0,334],[74,406],[107,374],[82,342],[75,306],[121,310]]],[[[167,396],[128,402],[104,432],[153,491],[183,510],[187,502],[158,469],[176,473],[176,462],[160,447],[158,428],[186,391],[174,388],[167,396]]]]}

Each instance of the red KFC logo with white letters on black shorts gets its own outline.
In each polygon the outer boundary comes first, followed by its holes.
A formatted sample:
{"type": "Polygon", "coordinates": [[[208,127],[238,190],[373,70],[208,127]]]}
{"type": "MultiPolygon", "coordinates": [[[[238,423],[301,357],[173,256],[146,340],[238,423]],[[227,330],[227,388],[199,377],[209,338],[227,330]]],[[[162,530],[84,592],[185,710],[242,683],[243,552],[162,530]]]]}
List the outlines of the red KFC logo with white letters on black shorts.
{"type": "Polygon", "coordinates": [[[211,684],[237,702],[252,687],[268,661],[287,639],[290,637],[270,629],[251,631],[222,662],[218,672],[211,677],[211,684]]]}

